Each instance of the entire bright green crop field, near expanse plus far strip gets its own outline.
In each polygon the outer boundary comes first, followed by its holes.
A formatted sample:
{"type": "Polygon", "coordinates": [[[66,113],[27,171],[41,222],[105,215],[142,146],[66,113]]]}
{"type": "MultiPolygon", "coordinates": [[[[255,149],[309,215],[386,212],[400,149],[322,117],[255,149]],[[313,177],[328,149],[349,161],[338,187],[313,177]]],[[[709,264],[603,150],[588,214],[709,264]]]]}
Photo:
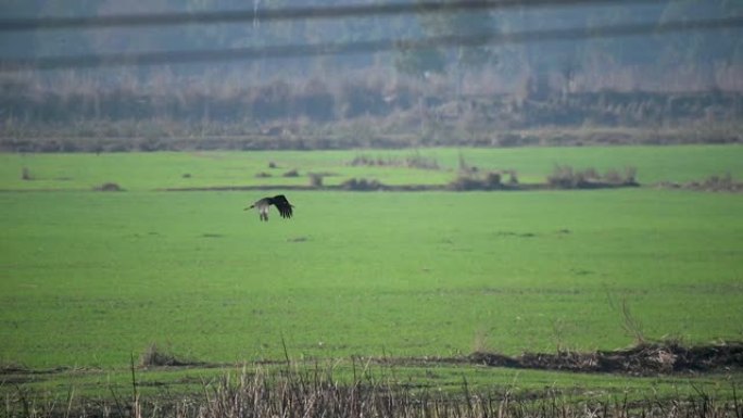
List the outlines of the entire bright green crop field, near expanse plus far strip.
{"type": "MultiPolygon", "coordinates": [[[[0,155],[0,366],[124,373],[152,344],[189,362],[241,364],[743,339],[743,197],[651,186],[740,179],[743,148],[431,149],[417,155],[438,169],[349,165],[413,154],[0,155]],[[631,165],[645,186],[286,191],[292,219],[243,212],[281,186],[307,185],[310,172],[332,173],[326,183],[445,183],[459,155],[522,181],[543,181],[555,164],[631,165]],[[281,175],[294,168],[299,177],[281,175]],[[92,191],[106,181],[126,191],[92,191]],[[275,189],[161,191],[256,185],[275,189]]],[[[468,372],[481,384],[514,373],[468,372]]],[[[533,376],[540,385],[614,384],[533,376]]]]}

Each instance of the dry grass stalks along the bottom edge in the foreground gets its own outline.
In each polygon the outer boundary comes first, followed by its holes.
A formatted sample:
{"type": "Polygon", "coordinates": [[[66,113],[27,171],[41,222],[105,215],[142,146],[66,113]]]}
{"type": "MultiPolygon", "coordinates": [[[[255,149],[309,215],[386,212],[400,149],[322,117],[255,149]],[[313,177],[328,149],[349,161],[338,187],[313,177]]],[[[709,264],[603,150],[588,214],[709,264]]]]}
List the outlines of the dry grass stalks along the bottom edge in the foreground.
{"type": "Polygon", "coordinates": [[[459,388],[433,390],[414,382],[376,378],[368,365],[353,367],[343,382],[332,368],[243,369],[204,381],[200,393],[146,396],[133,368],[126,392],[111,389],[112,397],[91,400],[36,396],[17,388],[4,403],[7,417],[713,417],[741,418],[743,405],[732,387],[732,398],[718,400],[697,390],[673,398],[628,400],[627,395],[583,397],[557,389],[515,393],[513,388],[470,389],[463,378],[459,388]]]}

